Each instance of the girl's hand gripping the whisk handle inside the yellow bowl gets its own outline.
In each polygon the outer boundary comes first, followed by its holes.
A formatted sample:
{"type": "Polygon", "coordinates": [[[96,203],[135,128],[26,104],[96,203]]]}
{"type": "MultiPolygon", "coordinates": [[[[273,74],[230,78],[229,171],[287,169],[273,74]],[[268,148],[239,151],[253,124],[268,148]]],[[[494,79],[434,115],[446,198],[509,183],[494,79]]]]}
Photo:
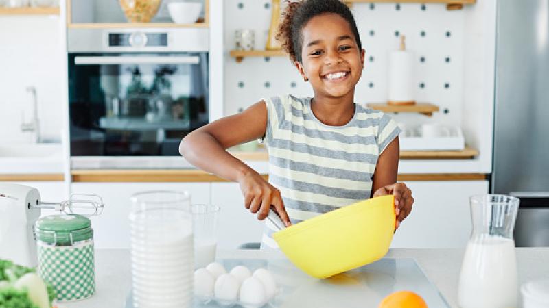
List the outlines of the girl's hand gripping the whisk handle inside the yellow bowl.
{"type": "Polygon", "coordinates": [[[290,227],[292,222],[284,209],[284,203],[280,191],[270,185],[259,173],[251,170],[238,179],[240,190],[244,196],[244,207],[253,214],[257,213],[257,219],[264,220],[270,207],[274,207],[280,218],[290,227]]]}

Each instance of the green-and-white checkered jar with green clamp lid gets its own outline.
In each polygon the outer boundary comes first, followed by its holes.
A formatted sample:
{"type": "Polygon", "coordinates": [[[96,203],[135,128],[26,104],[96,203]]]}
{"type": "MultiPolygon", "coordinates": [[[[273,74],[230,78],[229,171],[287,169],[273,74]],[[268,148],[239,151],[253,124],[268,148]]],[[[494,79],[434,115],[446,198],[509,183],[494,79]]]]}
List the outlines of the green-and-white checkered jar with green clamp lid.
{"type": "Polygon", "coordinates": [[[34,224],[38,273],[62,302],[82,300],[95,293],[93,229],[85,216],[51,215],[34,224]]]}

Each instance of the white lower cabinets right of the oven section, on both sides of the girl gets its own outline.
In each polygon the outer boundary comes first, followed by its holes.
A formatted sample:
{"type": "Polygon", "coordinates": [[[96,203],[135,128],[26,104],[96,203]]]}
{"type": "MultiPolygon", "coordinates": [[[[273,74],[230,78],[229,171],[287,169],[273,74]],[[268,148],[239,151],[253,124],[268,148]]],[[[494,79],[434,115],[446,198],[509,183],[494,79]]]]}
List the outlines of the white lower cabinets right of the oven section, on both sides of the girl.
{"type": "MultiPolygon", "coordinates": [[[[487,194],[488,181],[409,181],[412,214],[395,233],[391,248],[464,248],[471,232],[469,196],[487,194]]],[[[212,183],[211,201],[221,207],[218,247],[261,242],[263,222],[244,208],[237,183],[212,183]]]]}

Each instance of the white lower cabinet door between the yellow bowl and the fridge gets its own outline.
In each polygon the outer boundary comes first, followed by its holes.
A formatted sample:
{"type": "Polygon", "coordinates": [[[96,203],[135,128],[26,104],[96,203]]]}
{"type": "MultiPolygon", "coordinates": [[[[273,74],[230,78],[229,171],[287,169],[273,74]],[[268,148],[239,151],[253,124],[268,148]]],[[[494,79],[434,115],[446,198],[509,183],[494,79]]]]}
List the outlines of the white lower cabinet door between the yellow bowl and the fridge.
{"type": "Polygon", "coordinates": [[[488,193],[488,181],[409,181],[412,213],[391,248],[465,248],[471,233],[469,196],[488,193]]]}

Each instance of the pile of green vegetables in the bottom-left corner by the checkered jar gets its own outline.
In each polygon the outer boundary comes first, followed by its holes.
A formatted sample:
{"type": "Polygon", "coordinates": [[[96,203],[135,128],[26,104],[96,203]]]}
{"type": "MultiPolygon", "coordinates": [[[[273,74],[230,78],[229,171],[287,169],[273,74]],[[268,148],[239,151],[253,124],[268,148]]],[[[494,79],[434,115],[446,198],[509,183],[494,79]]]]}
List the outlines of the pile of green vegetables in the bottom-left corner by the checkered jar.
{"type": "Polygon", "coordinates": [[[51,285],[45,285],[36,275],[34,268],[19,266],[12,261],[0,259],[1,308],[51,307],[55,296],[54,288],[51,285]]]}

